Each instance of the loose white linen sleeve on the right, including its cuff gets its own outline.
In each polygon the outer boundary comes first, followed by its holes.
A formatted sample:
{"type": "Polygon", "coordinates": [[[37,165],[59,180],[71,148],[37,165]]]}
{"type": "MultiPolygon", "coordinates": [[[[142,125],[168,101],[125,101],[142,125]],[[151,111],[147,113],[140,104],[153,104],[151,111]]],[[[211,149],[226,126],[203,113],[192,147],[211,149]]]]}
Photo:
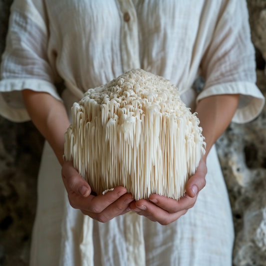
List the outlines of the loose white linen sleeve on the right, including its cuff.
{"type": "Polygon", "coordinates": [[[232,119],[245,123],[262,111],[265,98],[256,86],[255,49],[251,41],[245,0],[227,0],[202,60],[206,80],[197,102],[219,94],[240,94],[232,119]]]}

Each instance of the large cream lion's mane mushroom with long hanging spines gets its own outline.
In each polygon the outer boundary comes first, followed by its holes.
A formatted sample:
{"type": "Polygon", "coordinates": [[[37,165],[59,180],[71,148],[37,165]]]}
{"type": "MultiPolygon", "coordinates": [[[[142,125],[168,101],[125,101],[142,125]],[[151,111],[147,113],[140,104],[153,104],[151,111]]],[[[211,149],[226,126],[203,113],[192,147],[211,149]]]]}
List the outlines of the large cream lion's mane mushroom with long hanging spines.
{"type": "Polygon", "coordinates": [[[169,80],[133,69],[89,89],[71,112],[64,156],[97,194],[121,185],[136,200],[184,195],[205,143],[169,80]]]}

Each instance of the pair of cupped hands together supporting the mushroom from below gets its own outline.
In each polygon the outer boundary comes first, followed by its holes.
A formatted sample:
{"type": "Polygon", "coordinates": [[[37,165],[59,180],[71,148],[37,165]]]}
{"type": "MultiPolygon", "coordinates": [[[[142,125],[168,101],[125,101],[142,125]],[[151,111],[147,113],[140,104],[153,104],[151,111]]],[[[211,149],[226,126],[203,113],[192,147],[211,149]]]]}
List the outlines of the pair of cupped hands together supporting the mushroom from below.
{"type": "Polygon", "coordinates": [[[77,173],[71,162],[65,162],[62,167],[62,178],[71,206],[102,223],[132,210],[151,221],[168,225],[194,206],[199,191],[206,184],[206,173],[206,163],[202,160],[195,174],[187,182],[185,196],[178,201],[156,194],[151,195],[149,201],[134,201],[126,188],[121,186],[105,195],[93,196],[90,186],[77,173]]]}

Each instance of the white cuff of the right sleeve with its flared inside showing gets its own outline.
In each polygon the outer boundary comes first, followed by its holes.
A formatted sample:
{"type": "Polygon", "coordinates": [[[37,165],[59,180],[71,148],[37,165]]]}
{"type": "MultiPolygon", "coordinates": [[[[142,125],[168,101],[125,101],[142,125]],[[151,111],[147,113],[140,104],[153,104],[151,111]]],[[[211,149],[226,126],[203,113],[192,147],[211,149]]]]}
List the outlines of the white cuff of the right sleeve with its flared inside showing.
{"type": "Polygon", "coordinates": [[[255,119],[263,110],[265,97],[259,88],[251,82],[229,82],[204,89],[197,97],[201,99],[221,94],[241,94],[238,108],[232,122],[247,123],[255,119]]]}

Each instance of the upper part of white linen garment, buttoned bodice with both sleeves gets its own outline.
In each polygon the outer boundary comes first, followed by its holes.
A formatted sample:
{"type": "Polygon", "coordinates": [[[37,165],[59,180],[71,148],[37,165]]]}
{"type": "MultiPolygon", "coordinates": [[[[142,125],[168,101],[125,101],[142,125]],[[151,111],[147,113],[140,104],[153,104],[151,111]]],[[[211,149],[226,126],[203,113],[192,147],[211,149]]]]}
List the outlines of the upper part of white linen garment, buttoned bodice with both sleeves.
{"type": "Polygon", "coordinates": [[[241,94],[235,122],[254,119],[264,105],[245,0],[15,0],[0,114],[29,119],[23,88],[60,99],[54,84],[63,80],[79,99],[131,68],[170,79],[192,109],[200,72],[206,83],[197,101],[241,94]]]}

